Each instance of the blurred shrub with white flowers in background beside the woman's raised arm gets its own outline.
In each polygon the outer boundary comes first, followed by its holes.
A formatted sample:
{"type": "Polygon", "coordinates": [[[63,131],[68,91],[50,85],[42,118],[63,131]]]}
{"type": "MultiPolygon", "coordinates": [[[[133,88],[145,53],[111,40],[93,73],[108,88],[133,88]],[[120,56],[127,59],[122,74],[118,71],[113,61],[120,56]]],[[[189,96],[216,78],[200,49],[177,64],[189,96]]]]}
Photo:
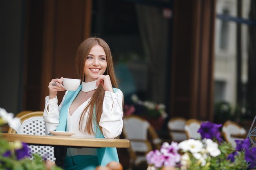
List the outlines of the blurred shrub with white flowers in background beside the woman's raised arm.
{"type": "Polygon", "coordinates": [[[132,95],[131,100],[132,104],[124,105],[124,112],[126,116],[135,114],[149,119],[165,119],[167,117],[164,104],[156,104],[155,102],[150,101],[143,102],[137,95],[132,95]]]}

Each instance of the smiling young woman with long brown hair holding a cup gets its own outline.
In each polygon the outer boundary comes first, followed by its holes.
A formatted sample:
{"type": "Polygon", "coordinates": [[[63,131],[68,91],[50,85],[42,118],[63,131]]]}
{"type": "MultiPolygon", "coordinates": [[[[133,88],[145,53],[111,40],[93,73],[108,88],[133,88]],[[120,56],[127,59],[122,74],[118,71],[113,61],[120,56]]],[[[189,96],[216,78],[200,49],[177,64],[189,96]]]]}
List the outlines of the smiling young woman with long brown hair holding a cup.
{"type": "MultiPolygon", "coordinates": [[[[76,91],[66,91],[58,106],[57,93],[63,77],[49,83],[45,98],[44,120],[49,131],[72,131],[74,137],[115,138],[123,128],[123,93],[117,89],[112,55],[101,38],[83,41],[76,53],[76,70],[82,84],[76,91]]],[[[69,148],[66,170],[94,170],[110,161],[118,161],[116,148],[69,148]]]]}

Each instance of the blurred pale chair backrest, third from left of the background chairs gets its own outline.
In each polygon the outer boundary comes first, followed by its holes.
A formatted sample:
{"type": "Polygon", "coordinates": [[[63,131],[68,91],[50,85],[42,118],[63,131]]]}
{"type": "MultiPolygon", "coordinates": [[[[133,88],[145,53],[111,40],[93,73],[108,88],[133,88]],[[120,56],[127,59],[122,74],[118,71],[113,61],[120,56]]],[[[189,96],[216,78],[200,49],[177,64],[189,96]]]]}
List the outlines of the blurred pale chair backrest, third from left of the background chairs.
{"type": "Polygon", "coordinates": [[[201,126],[201,121],[197,119],[189,119],[186,121],[185,124],[185,131],[187,138],[193,138],[193,139],[198,139],[201,137],[200,133],[198,133],[198,130],[201,126]]]}

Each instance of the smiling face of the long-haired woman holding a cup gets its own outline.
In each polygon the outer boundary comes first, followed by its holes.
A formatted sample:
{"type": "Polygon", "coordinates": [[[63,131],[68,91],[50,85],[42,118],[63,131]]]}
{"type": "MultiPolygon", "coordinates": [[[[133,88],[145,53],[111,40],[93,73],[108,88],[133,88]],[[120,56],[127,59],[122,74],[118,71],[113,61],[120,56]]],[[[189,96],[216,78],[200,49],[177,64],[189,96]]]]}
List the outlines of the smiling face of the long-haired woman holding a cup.
{"type": "Polygon", "coordinates": [[[83,73],[85,74],[85,82],[92,82],[97,75],[101,75],[106,71],[107,58],[104,49],[100,45],[92,46],[88,56],[86,56],[83,73]]]}

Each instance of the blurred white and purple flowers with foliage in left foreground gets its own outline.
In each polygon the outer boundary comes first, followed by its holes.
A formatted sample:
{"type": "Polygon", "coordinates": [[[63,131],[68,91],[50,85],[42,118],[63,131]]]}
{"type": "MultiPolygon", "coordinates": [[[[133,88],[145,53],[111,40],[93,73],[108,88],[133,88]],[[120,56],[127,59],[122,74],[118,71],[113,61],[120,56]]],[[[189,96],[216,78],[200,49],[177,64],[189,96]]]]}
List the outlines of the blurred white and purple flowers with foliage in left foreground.
{"type": "MultiPolygon", "coordinates": [[[[13,126],[20,123],[20,120],[0,108],[0,125],[5,123],[13,126]]],[[[42,159],[39,155],[33,155],[34,161],[31,161],[29,151],[27,144],[20,141],[9,143],[0,136],[0,170],[61,170],[47,161],[46,157],[42,159]]]]}

